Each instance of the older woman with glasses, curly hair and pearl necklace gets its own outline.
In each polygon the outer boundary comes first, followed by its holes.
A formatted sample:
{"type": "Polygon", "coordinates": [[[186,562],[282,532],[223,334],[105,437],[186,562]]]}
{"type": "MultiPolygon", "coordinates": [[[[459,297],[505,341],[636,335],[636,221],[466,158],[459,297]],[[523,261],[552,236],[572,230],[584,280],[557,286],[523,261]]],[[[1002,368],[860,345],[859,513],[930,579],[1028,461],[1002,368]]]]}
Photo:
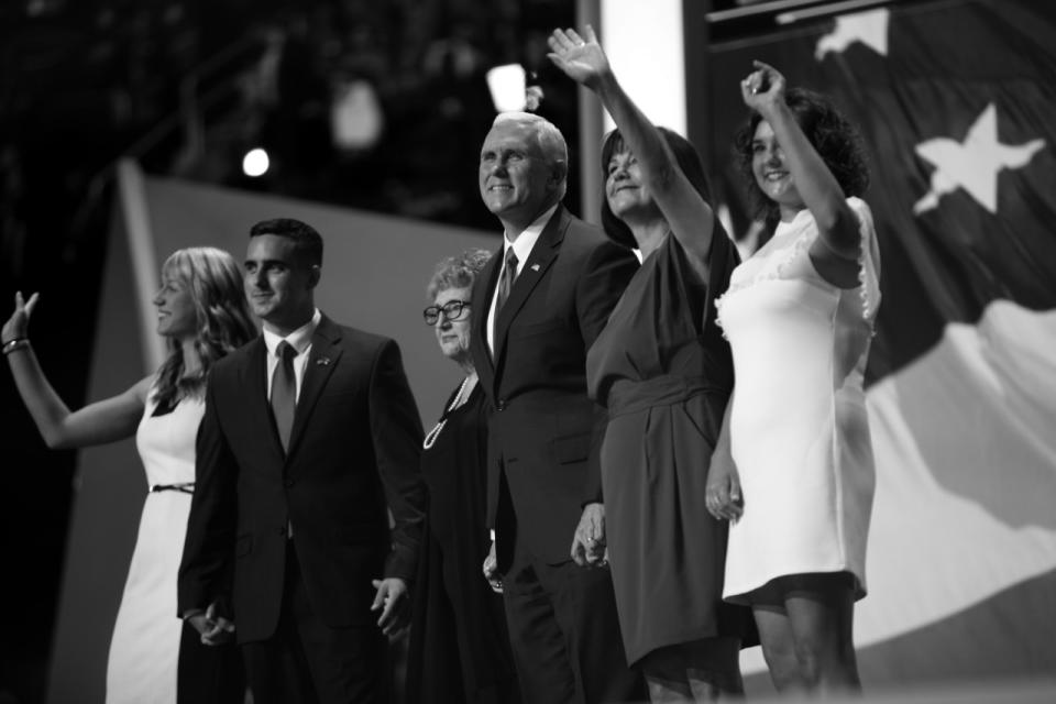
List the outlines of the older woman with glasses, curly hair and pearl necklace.
{"type": "MultiPolygon", "coordinates": [[[[443,260],[425,311],[440,352],[462,382],[426,436],[421,474],[429,488],[426,547],[416,580],[407,700],[517,702],[518,688],[499,594],[481,579],[491,547],[485,525],[487,405],[470,358],[470,294],[485,250],[443,260]]],[[[502,591],[502,584],[492,583],[502,591]]]]}

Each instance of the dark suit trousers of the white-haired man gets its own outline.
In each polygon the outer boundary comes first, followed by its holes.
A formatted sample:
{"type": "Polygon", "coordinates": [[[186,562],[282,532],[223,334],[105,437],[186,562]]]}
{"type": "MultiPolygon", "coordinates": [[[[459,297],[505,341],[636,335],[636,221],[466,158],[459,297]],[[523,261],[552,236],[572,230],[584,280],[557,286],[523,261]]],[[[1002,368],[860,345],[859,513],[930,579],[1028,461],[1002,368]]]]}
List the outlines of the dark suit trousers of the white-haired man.
{"type": "Polygon", "coordinates": [[[525,704],[646,701],[627,668],[607,568],[547,564],[518,538],[503,596],[525,704]]]}

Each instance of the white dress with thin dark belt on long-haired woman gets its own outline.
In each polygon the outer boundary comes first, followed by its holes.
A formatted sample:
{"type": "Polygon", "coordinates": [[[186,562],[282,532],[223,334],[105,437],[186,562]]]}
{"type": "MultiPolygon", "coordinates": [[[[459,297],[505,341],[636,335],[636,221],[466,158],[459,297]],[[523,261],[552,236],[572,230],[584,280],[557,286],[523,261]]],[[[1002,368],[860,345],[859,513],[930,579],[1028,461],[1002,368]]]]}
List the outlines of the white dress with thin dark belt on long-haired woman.
{"type": "MultiPolygon", "coordinates": [[[[195,437],[205,400],[183,398],[170,413],[152,416],[154,389],[135,446],[148,486],[195,481],[195,437]]],[[[107,704],[174,704],[183,622],[176,615],[176,573],[184,552],[190,494],[152,492],[113,626],[107,664],[107,704]]]]}

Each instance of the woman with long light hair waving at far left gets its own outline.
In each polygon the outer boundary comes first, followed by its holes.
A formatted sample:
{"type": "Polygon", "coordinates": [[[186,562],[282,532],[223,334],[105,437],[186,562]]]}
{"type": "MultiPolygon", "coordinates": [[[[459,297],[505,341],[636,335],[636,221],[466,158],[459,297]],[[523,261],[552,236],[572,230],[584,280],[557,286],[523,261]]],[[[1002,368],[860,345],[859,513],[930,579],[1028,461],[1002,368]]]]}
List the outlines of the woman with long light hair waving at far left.
{"type": "Polygon", "coordinates": [[[111,638],[107,703],[168,704],[177,701],[177,690],[182,702],[241,703],[245,688],[234,646],[202,645],[197,631],[179,620],[176,573],[194,491],[206,376],[217,360],[253,339],[256,328],[238,263],[212,248],[173,253],[162,266],[162,287],[153,302],[168,358],[124,393],[78,410],[69,410],[52,388],[30,345],[36,294],[29,300],[15,294],[0,342],[19,394],[50,448],[135,436],[146,471],[151,490],[111,638]]]}

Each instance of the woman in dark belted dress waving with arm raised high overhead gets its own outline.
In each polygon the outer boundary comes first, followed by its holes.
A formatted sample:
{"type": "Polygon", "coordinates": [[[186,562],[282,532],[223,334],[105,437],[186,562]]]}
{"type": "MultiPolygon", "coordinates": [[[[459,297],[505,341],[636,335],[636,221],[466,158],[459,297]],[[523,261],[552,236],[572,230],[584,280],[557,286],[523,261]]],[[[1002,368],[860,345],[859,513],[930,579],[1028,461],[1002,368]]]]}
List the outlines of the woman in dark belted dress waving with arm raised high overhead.
{"type": "Polygon", "coordinates": [[[642,255],[587,355],[591,395],[608,413],[602,486],[627,658],[654,702],[737,695],[751,616],[722,601],[726,526],[705,508],[734,383],[713,300],[737,253],[707,202],[695,150],[631,102],[593,30],[586,41],[557,30],[550,47],[616,122],[602,151],[602,222],[642,255]]]}

